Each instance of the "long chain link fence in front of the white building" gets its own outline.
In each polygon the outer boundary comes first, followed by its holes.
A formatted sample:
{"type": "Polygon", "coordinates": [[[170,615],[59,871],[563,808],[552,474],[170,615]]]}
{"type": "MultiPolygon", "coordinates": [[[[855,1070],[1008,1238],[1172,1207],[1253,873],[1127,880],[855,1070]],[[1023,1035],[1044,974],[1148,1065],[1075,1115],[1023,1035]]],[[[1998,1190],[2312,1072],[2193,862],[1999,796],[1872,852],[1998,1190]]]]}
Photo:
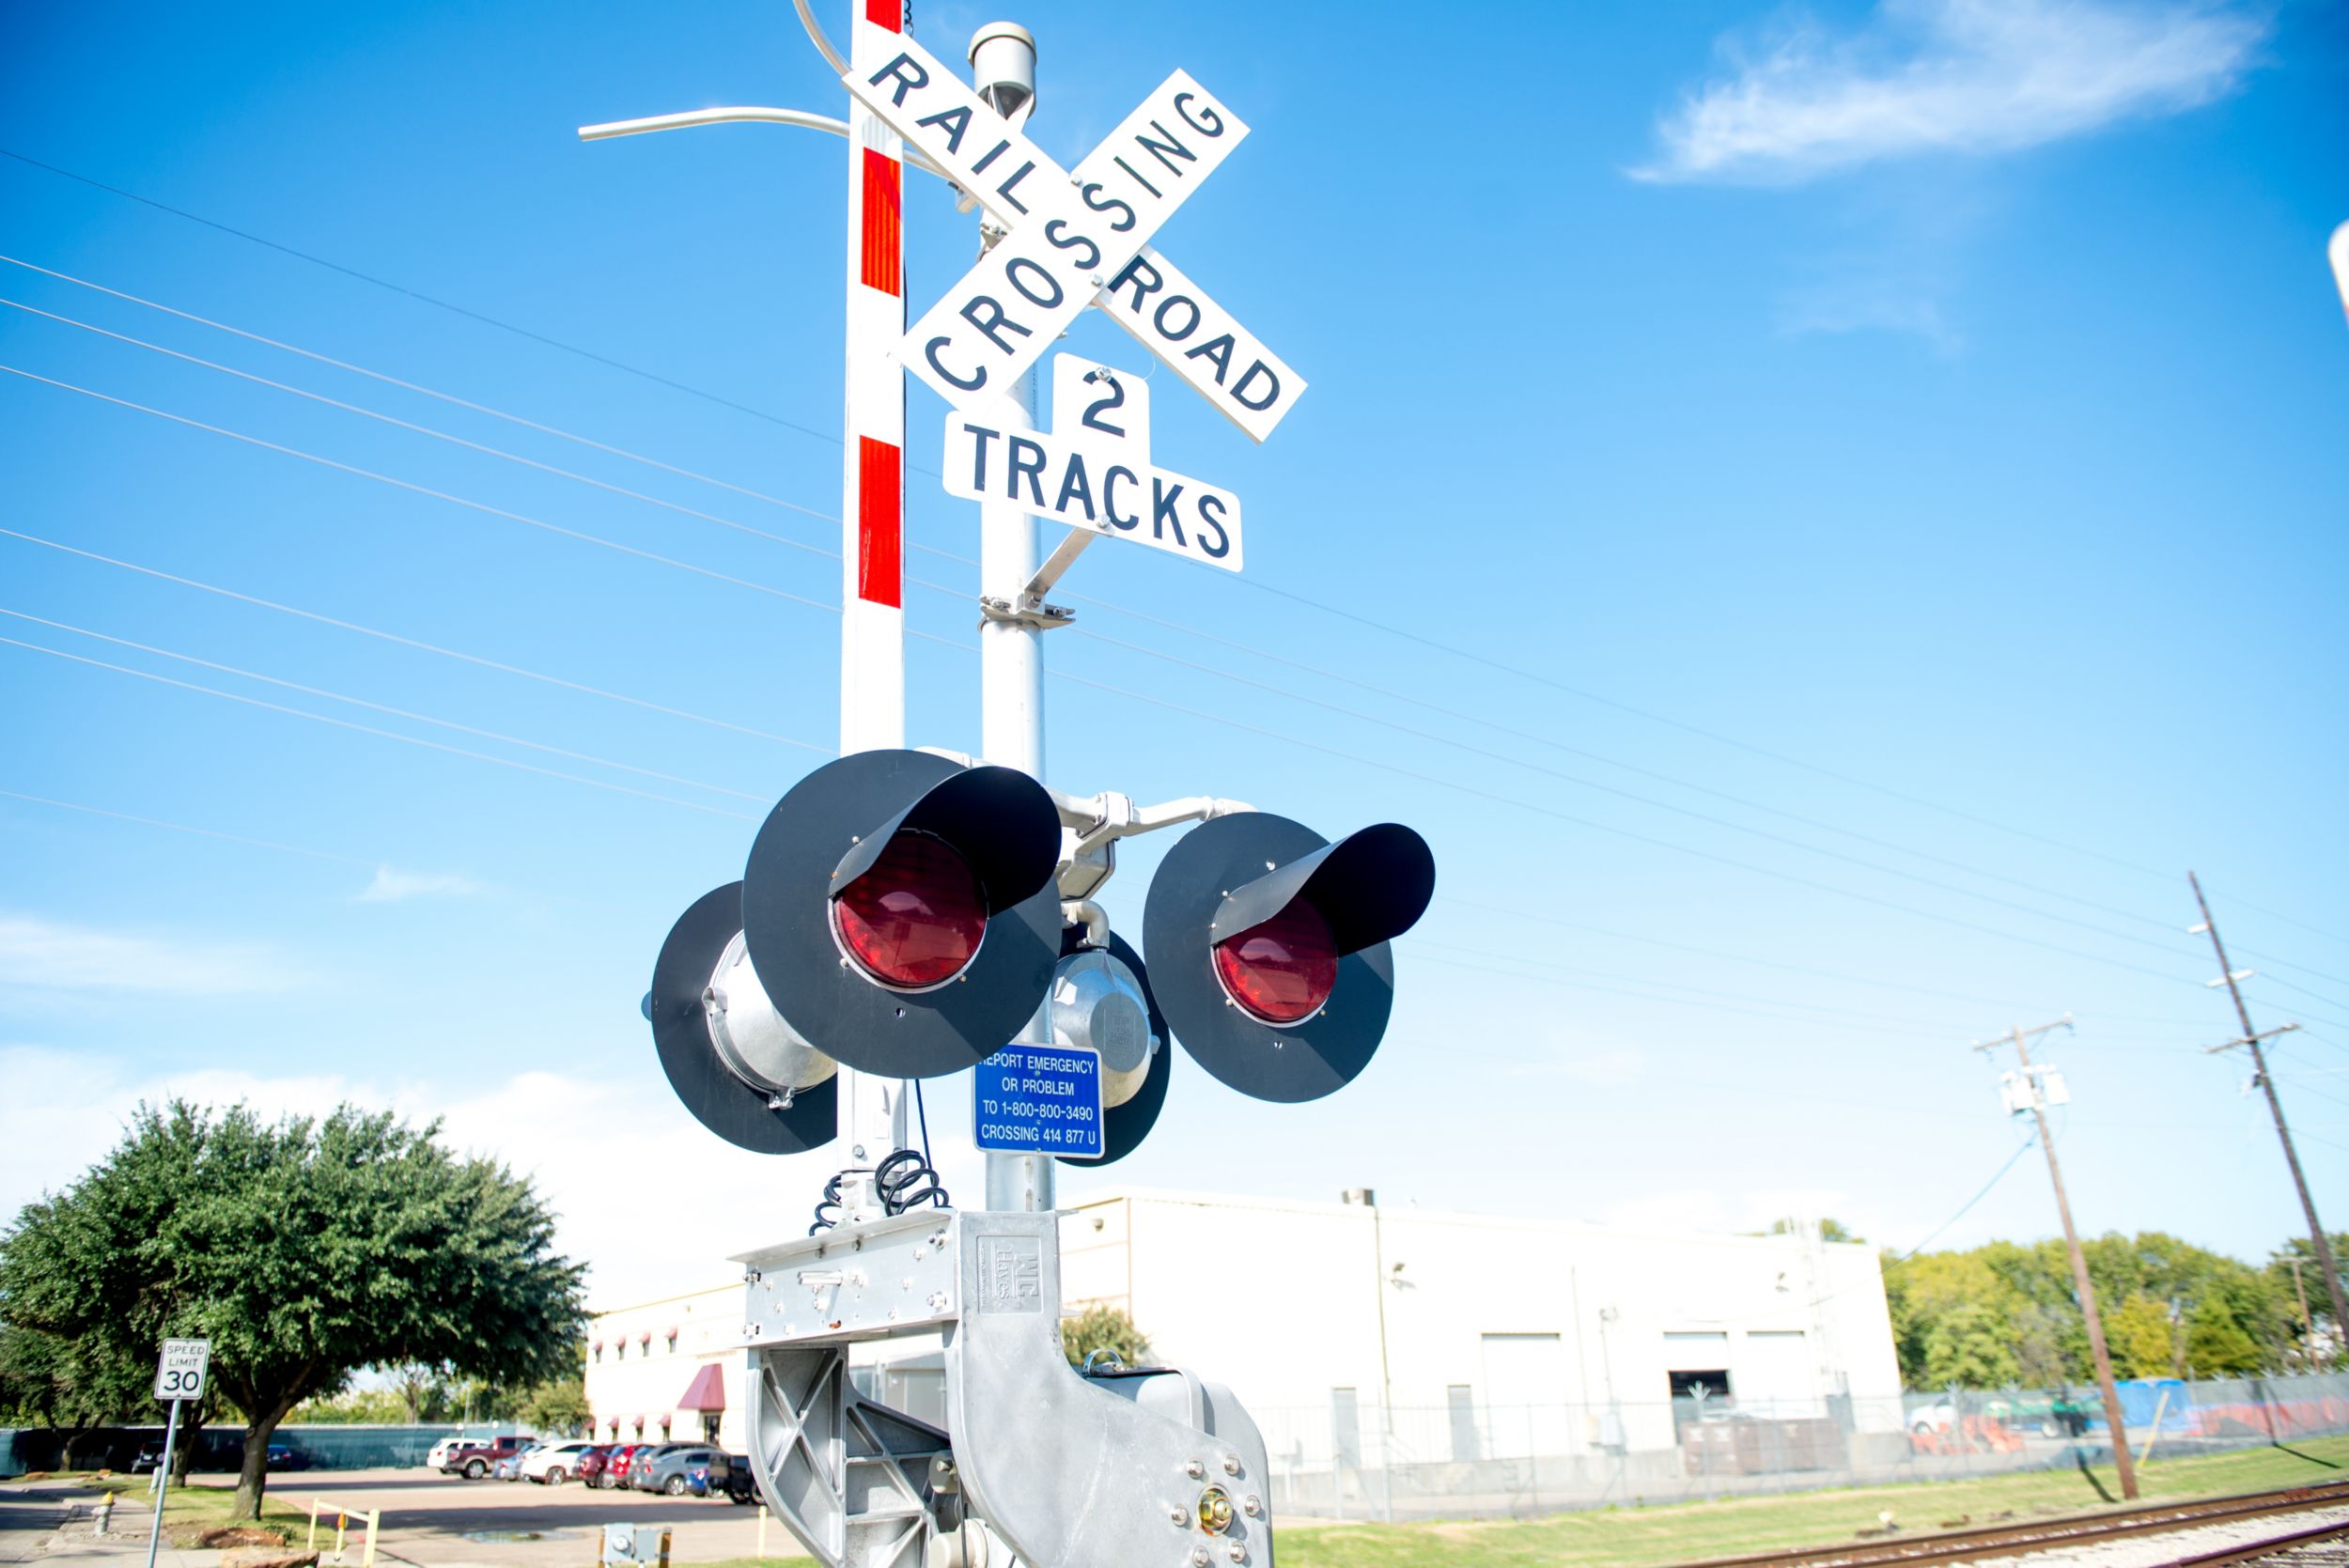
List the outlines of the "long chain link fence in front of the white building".
{"type": "MultiPolygon", "coordinates": [[[[2095,1387],[1889,1399],[1449,1404],[1250,1411],[1271,1505],[1318,1519],[1496,1519],[1743,1493],[1957,1481],[2109,1462],[2095,1387]]],[[[2349,1376],[2123,1383],[2121,1422],[2154,1462],[2349,1432],[2349,1376]]]]}

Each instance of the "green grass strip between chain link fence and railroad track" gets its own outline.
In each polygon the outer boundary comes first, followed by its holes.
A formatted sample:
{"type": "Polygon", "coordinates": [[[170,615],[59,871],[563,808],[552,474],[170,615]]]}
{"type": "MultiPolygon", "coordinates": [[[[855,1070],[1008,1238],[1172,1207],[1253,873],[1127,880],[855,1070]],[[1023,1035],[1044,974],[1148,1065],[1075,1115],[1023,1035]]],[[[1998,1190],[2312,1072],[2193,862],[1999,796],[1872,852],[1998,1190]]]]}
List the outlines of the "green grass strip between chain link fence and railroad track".
{"type": "MultiPolygon", "coordinates": [[[[2119,1498],[2109,1467],[2095,1467],[2119,1498]]],[[[2246,1448],[2138,1469],[2147,1502],[2248,1493],[2307,1481],[2349,1479],[2349,1437],[2321,1437],[2293,1448],[2246,1448]]],[[[1647,1568],[1698,1556],[1734,1556],[1773,1547],[1823,1547],[1877,1526],[1891,1509],[1903,1530],[1936,1530],[1992,1514],[2077,1514],[2105,1507],[2077,1469],[2046,1469],[1978,1481],[1872,1486],[1785,1498],[1729,1498],[1649,1509],[1600,1509],[1548,1519],[1456,1523],[1290,1523],[1280,1526],[1283,1568],[1647,1568]]]]}

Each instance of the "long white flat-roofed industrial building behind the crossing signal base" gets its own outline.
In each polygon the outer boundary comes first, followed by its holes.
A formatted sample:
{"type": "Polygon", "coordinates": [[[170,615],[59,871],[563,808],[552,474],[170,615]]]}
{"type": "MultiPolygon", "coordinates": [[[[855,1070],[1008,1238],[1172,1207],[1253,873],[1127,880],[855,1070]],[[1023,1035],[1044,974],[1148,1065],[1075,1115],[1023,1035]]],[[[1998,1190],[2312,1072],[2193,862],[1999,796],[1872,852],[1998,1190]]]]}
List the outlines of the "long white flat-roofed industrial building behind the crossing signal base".
{"type": "MultiPolygon", "coordinates": [[[[1062,1286],[1069,1312],[1123,1307],[1158,1361],[1229,1385],[1292,1507],[1633,1500],[1905,1451],[1875,1251],[1816,1232],[1109,1190],[1062,1216],[1062,1286]]],[[[597,1437],[698,1439],[709,1420],[740,1448],[740,1326],[733,1282],[599,1312],[597,1437]]],[[[935,1338],[867,1350],[871,1392],[942,1415],[935,1338]]]]}

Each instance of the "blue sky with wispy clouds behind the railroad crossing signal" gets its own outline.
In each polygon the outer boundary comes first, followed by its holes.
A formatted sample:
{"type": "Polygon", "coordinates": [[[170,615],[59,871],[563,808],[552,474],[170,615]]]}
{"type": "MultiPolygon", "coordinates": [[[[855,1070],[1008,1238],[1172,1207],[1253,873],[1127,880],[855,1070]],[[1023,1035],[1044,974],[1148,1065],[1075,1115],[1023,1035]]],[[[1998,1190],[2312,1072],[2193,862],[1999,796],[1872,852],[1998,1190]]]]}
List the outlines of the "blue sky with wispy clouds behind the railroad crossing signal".
{"type": "MultiPolygon", "coordinates": [[[[2300,1221],[2201,1052],[2194,866],[2257,1021],[2307,1023],[2279,1075],[2349,1223],[2337,16],[1017,19],[1066,162],[1174,66],[1252,124],[1158,244],[1311,380],[1261,448],[1160,380],[1156,460],[1243,495],[1247,575],[1083,559],[1050,782],[1440,861],[1360,1082],[1179,1061],[1066,1190],[1910,1246],[2015,1145],[1968,1042],[2072,1012],[2081,1223],[2257,1253],[2300,1221]]],[[[637,998],[836,737],[841,143],[571,129],[839,85],[780,5],[9,28],[0,528],[47,545],[0,538],[0,1207],[139,1096],[359,1096],[538,1171],[601,1296],[721,1277],[829,1162],[700,1134],[637,998]]],[[[970,228],[909,190],[916,307],[970,228]]],[[[918,469],[942,413],[911,390],[918,469]]],[[[970,749],[975,516],[909,505],[909,735],[970,749]]],[[[975,1185],[968,1096],[930,1110],[975,1185]]],[[[2018,1164],[1943,1239],[2051,1230],[2018,1164]]]]}

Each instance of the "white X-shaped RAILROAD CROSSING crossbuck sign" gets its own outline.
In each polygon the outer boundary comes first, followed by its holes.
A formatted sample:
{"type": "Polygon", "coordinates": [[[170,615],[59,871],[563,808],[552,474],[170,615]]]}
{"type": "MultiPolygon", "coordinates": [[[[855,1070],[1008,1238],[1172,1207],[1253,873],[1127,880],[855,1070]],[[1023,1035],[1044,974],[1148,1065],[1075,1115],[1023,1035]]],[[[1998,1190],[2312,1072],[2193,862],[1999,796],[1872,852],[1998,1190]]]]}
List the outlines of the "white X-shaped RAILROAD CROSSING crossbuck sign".
{"type": "Polygon", "coordinates": [[[1304,392],[1297,371],[1149,246],[1247,136],[1189,73],[1170,75],[1073,174],[911,38],[841,82],[1005,230],[900,347],[949,404],[1001,397],[1092,303],[1257,441],[1304,392]]]}

